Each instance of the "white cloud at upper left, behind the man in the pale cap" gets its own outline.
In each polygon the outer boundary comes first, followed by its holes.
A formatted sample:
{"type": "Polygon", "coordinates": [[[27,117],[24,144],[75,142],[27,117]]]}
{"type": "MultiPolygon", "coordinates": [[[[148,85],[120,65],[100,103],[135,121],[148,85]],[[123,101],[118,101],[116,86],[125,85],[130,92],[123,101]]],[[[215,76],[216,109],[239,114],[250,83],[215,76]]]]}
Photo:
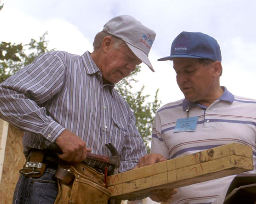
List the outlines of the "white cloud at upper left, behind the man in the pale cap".
{"type": "Polygon", "coordinates": [[[60,18],[39,20],[15,10],[15,8],[9,9],[10,7],[4,5],[4,9],[0,12],[0,18],[5,19],[1,21],[1,27],[5,28],[4,32],[0,32],[1,41],[26,44],[30,42],[31,38],[38,41],[39,37],[47,31],[46,40],[49,41],[49,49],[55,48],[79,55],[86,50],[92,51],[92,43],[79,28],[69,22],[60,18]]]}

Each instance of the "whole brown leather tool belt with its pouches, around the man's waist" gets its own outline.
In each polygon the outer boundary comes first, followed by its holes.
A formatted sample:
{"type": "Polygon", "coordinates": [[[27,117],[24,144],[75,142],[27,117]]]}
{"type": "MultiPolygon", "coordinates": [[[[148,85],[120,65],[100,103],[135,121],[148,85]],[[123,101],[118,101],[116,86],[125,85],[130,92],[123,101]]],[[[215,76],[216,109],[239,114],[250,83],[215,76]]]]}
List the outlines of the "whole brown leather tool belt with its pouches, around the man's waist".
{"type": "MultiPolygon", "coordinates": [[[[49,154],[49,153],[48,153],[49,154]]],[[[40,177],[49,165],[47,153],[32,149],[23,168],[19,171],[26,177],[40,177]]],[[[50,156],[50,159],[54,159],[50,156]]],[[[58,195],[54,204],[107,204],[111,195],[105,187],[105,175],[84,163],[56,164],[58,195]]],[[[52,163],[50,163],[52,165],[52,163]]]]}

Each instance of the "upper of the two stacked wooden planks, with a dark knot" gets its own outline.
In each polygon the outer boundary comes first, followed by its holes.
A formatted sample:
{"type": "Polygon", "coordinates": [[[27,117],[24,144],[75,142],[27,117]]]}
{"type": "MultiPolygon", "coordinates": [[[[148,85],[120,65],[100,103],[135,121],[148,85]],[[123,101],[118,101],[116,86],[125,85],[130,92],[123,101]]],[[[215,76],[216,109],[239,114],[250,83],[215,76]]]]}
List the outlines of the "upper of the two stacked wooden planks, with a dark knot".
{"type": "Polygon", "coordinates": [[[248,145],[231,143],[218,146],[209,150],[203,150],[194,154],[177,157],[161,163],[133,169],[123,173],[118,173],[107,178],[107,186],[114,186],[123,182],[133,181],[142,177],[154,176],[159,173],[175,170],[177,168],[187,167],[198,163],[212,161],[227,156],[252,157],[252,148],[248,145]]]}

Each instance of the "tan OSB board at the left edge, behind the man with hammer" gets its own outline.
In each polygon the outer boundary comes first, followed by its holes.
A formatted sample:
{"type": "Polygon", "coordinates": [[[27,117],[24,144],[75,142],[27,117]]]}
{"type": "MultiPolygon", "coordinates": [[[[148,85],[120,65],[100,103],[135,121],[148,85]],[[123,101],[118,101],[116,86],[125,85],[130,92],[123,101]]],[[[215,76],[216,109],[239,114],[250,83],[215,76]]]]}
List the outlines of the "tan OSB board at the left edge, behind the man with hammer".
{"type": "Polygon", "coordinates": [[[25,163],[22,135],[23,131],[9,124],[0,185],[0,204],[11,204],[16,182],[20,175],[19,170],[25,163]]]}

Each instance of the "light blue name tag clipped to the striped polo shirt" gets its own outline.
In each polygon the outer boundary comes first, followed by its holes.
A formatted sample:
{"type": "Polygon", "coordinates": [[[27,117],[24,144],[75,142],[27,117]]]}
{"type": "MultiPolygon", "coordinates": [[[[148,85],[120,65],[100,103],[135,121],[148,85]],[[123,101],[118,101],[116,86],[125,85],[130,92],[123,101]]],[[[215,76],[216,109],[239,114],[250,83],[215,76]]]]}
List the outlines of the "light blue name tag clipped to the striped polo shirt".
{"type": "Polygon", "coordinates": [[[174,128],[174,133],[195,131],[197,120],[198,120],[198,116],[177,119],[177,122],[174,128]]]}

